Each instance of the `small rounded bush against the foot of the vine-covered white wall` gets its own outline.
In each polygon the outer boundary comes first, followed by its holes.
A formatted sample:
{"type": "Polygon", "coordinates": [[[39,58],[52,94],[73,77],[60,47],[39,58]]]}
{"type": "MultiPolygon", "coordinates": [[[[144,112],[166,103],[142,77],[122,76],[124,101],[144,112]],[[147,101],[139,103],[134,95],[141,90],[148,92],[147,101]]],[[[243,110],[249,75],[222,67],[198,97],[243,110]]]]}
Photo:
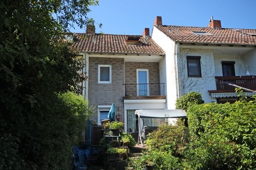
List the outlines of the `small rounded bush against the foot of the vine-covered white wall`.
{"type": "Polygon", "coordinates": [[[198,92],[189,92],[180,97],[180,99],[176,100],[176,109],[183,109],[187,111],[187,109],[192,105],[199,105],[202,104],[202,95],[198,92]]]}

